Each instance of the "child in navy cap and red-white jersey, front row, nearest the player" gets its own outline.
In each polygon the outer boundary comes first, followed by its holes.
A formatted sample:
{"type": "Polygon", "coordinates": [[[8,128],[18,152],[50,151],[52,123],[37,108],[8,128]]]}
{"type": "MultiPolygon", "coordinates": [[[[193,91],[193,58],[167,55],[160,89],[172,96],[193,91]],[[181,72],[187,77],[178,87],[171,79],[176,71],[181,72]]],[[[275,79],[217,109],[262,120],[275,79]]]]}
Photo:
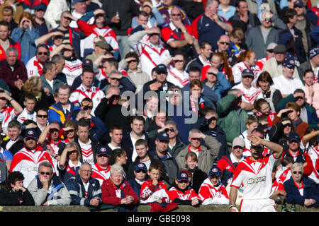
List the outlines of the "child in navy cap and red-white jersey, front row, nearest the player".
{"type": "Polygon", "coordinates": [[[198,192],[202,205],[229,204],[225,186],[220,182],[221,174],[218,167],[211,167],[209,170],[208,178],[201,184],[198,192]]]}

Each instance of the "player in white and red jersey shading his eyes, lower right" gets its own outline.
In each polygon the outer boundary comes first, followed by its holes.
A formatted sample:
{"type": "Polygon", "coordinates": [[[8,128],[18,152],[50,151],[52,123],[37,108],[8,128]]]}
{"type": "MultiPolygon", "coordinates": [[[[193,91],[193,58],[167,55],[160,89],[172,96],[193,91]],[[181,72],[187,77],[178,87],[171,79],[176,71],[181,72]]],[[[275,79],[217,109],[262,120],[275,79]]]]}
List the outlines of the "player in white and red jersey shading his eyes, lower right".
{"type": "Polygon", "coordinates": [[[230,212],[238,212],[236,207],[237,192],[243,187],[241,212],[275,212],[272,196],[272,170],[280,160],[282,146],[266,141],[264,135],[256,131],[248,139],[251,141],[250,157],[238,163],[233,182],[230,184],[230,212]],[[264,147],[269,148],[271,155],[264,157],[264,147]]]}

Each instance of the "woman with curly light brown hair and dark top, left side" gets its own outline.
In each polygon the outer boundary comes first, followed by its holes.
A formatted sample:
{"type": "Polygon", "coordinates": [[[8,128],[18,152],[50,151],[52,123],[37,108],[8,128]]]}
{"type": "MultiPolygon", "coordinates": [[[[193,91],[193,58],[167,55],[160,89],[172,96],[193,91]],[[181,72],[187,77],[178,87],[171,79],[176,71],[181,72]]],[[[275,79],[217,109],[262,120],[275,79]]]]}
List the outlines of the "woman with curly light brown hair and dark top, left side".
{"type": "Polygon", "coordinates": [[[19,104],[24,107],[24,97],[30,93],[35,96],[37,103],[35,109],[38,107],[49,108],[55,102],[53,95],[50,93],[45,93],[45,90],[42,88],[42,81],[40,76],[31,76],[28,78],[26,83],[23,84],[21,89],[21,95],[19,97],[19,104]]]}

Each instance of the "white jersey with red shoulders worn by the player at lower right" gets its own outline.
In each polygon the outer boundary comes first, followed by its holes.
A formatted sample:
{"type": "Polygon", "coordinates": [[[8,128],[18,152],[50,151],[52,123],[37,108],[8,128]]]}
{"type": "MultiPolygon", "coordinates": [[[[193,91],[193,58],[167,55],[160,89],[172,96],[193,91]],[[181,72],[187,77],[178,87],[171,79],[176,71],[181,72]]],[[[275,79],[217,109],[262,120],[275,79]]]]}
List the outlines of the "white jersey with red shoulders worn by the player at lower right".
{"type": "Polygon", "coordinates": [[[272,169],[276,162],[280,160],[269,155],[258,161],[247,157],[238,163],[233,182],[230,186],[236,188],[243,187],[242,199],[261,199],[272,196],[272,169]]]}

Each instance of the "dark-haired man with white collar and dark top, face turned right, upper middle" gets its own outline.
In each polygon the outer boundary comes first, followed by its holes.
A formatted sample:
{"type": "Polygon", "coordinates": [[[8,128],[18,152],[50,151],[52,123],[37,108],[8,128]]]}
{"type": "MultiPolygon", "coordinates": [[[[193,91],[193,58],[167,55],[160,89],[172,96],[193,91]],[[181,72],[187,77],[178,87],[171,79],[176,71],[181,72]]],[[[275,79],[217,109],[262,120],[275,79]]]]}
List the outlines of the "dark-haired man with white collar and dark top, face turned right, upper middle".
{"type": "MultiPolygon", "coordinates": [[[[199,43],[199,54],[196,58],[189,61],[186,65],[186,71],[189,71],[193,67],[198,67],[202,69],[204,65],[209,64],[209,59],[211,59],[212,47],[210,42],[202,41],[199,43]]],[[[198,78],[199,79],[199,78],[198,78]]]]}

